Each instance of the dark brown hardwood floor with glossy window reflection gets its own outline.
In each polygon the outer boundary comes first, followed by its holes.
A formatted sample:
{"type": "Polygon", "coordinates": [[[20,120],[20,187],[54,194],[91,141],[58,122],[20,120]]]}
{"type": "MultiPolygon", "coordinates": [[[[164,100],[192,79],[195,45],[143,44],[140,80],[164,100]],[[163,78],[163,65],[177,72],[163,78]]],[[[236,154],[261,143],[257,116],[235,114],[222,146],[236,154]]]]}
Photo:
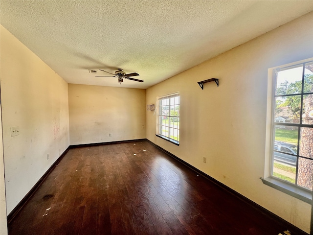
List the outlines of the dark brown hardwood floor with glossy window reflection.
{"type": "Polygon", "coordinates": [[[292,232],[288,226],[136,141],[70,149],[8,228],[9,235],[278,235],[292,232]]]}

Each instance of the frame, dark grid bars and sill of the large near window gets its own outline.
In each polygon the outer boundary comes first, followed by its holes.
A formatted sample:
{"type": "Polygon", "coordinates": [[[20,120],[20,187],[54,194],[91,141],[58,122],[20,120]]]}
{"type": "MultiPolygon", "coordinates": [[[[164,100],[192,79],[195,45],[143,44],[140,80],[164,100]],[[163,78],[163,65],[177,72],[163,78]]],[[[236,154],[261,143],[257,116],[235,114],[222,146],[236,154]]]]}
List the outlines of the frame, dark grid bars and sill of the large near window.
{"type": "MultiPolygon", "coordinates": [[[[268,70],[268,107],[267,107],[267,113],[270,114],[267,116],[267,135],[266,135],[266,156],[268,156],[266,158],[266,167],[268,167],[267,171],[265,169],[265,178],[260,178],[262,180],[262,182],[272,188],[278,189],[282,192],[285,192],[295,198],[298,198],[302,201],[305,201],[307,203],[312,203],[312,195],[313,195],[313,191],[308,189],[308,188],[304,188],[301,186],[297,185],[297,173],[298,173],[298,161],[299,158],[305,158],[305,159],[309,159],[307,157],[303,157],[299,155],[299,146],[298,146],[298,150],[297,150],[297,155],[296,155],[296,179],[295,179],[295,183],[291,183],[288,181],[285,181],[283,179],[280,179],[278,177],[273,176],[273,158],[274,158],[274,145],[275,145],[275,127],[277,125],[283,125],[285,127],[288,126],[295,126],[298,128],[298,143],[300,141],[300,128],[301,127],[310,127],[313,128],[312,125],[310,124],[302,124],[302,107],[303,107],[303,97],[305,95],[308,94],[313,94],[312,92],[304,92],[303,90],[303,79],[304,79],[304,69],[302,72],[302,89],[301,89],[301,93],[295,93],[295,94],[286,94],[285,96],[288,95],[301,95],[301,110],[300,110],[300,118],[299,118],[299,123],[289,123],[289,122],[280,122],[280,121],[275,121],[275,99],[277,96],[280,95],[276,95],[276,82],[277,82],[277,71],[284,71],[284,70],[288,70],[291,69],[292,67],[300,67],[302,65],[302,67],[305,66],[305,64],[313,62],[313,58],[309,58],[303,61],[298,61],[298,62],[294,62],[288,65],[284,65],[284,66],[279,66],[279,67],[275,67],[275,68],[271,68],[268,70]],[[267,173],[268,172],[268,173],[267,173]]],[[[284,95],[282,95],[284,96],[284,95]]],[[[312,159],[310,159],[312,160],[312,159]]],[[[312,160],[313,161],[313,160],[312,160]]]]}

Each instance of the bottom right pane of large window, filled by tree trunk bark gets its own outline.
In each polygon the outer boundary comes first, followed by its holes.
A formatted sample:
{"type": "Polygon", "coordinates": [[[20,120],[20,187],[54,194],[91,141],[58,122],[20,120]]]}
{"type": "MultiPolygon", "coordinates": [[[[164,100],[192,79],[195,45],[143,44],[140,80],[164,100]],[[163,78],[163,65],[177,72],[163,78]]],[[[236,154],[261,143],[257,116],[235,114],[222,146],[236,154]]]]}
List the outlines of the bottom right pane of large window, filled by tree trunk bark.
{"type": "Polygon", "coordinates": [[[299,158],[298,185],[312,190],[313,160],[299,158]]]}

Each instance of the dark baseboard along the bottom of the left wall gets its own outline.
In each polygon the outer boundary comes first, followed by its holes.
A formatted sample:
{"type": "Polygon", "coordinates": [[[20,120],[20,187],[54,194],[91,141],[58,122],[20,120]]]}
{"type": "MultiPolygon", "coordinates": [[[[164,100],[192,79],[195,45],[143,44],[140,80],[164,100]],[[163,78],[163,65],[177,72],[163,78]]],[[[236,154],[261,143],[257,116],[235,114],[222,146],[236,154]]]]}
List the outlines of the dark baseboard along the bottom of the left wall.
{"type": "Polygon", "coordinates": [[[29,198],[35,193],[37,188],[44,182],[45,178],[50,174],[50,172],[59,164],[62,158],[67,154],[70,146],[61,154],[61,156],[50,166],[50,168],[45,172],[45,174],[39,179],[39,181],[29,190],[29,192],[23,197],[19,204],[7,215],[7,223],[10,224],[14,217],[22,210],[23,206],[27,203],[29,198]]]}

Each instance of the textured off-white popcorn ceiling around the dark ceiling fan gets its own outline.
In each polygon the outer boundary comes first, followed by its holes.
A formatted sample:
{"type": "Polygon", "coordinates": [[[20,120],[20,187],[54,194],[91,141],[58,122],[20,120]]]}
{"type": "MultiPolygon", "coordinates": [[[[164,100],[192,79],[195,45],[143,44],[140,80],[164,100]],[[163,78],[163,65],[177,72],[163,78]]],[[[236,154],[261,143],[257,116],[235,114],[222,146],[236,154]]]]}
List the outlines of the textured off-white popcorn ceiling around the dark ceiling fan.
{"type": "Polygon", "coordinates": [[[312,10],[312,0],[0,0],[0,24],[68,83],[146,89],[312,10]],[[88,71],[118,68],[144,82],[88,71]]]}

